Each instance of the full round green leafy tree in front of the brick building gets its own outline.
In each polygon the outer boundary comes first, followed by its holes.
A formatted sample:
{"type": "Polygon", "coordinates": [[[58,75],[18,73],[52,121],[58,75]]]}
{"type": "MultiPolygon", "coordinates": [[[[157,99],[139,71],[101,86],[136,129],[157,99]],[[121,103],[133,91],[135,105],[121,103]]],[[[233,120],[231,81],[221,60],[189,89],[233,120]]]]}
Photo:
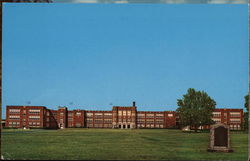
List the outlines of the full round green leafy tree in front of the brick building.
{"type": "Polygon", "coordinates": [[[196,132],[199,126],[214,123],[211,118],[216,102],[204,91],[189,88],[182,99],[177,99],[177,105],[182,126],[194,127],[196,132]]]}

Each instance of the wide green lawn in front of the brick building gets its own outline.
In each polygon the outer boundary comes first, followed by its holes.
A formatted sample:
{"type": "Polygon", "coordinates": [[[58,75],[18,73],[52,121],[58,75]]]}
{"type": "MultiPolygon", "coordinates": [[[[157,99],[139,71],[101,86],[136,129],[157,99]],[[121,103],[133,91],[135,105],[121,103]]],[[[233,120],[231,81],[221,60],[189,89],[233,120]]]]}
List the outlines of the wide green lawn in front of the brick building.
{"type": "Polygon", "coordinates": [[[233,153],[207,152],[209,133],[169,129],[4,129],[1,143],[9,159],[246,161],[247,138],[231,133],[233,153]]]}

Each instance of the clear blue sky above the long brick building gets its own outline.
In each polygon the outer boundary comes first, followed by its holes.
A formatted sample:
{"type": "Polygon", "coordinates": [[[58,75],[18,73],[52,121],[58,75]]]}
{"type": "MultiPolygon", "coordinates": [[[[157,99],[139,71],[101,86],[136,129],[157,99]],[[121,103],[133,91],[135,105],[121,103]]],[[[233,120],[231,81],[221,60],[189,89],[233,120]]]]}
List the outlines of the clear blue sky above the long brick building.
{"type": "Polygon", "coordinates": [[[244,108],[247,5],[6,4],[6,105],[176,110],[188,88],[244,108]]]}

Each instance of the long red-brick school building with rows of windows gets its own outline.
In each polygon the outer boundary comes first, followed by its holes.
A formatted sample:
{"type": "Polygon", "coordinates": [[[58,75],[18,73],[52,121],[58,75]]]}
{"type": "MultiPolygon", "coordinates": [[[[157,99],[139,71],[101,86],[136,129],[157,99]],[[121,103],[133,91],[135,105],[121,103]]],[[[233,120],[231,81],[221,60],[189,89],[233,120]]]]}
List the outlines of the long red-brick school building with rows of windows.
{"type": "MultiPolygon", "coordinates": [[[[243,110],[215,109],[212,119],[239,130],[243,110]]],[[[129,107],[113,106],[111,111],[50,110],[44,106],[7,106],[6,110],[6,127],[14,128],[173,128],[177,124],[175,111],[137,111],[135,102],[129,107]]]]}

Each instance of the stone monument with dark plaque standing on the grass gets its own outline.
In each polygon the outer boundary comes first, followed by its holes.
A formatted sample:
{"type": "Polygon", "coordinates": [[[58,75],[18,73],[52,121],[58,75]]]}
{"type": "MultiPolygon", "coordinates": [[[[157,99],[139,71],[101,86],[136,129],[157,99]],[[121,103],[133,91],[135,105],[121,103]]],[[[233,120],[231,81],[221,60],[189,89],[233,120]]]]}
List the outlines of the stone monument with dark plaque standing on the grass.
{"type": "Polygon", "coordinates": [[[219,123],[211,126],[208,151],[233,152],[230,146],[230,129],[228,125],[219,123]]]}

